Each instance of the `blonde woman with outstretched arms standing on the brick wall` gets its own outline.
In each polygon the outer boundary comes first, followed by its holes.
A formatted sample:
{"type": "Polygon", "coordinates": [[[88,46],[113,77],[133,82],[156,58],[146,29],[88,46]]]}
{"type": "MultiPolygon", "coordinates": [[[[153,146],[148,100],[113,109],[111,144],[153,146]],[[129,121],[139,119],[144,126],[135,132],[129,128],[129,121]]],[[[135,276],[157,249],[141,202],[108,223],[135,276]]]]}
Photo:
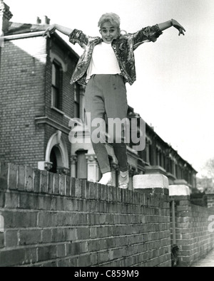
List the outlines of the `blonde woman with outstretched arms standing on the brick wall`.
{"type": "MultiPolygon", "coordinates": [[[[77,29],[66,28],[54,24],[46,29],[44,36],[49,36],[58,30],[69,36],[69,41],[78,43],[84,53],[76,65],[76,70],[71,78],[72,83],[86,85],[86,112],[91,115],[91,122],[96,118],[103,119],[106,114],[108,119],[123,120],[127,117],[126,83],[132,85],[136,80],[136,68],[134,51],[144,42],[155,42],[167,28],[174,27],[184,35],[183,26],[171,19],[164,23],[142,28],[136,33],[121,34],[120,17],[113,13],[103,14],[98,21],[101,37],[86,36],[77,29]]],[[[91,126],[91,135],[96,127],[91,126]]],[[[111,184],[111,166],[108,160],[108,152],[103,142],[95,142],[93,137],[94,152],[98,159],[103,177],[100,184],[111,184]]],[[[120,169],[119,187],[128,189],[128,157],[124,132],[121,130],[121,138],[116,135],[111,137],[113,149],[118,159],[120,169]]]]}

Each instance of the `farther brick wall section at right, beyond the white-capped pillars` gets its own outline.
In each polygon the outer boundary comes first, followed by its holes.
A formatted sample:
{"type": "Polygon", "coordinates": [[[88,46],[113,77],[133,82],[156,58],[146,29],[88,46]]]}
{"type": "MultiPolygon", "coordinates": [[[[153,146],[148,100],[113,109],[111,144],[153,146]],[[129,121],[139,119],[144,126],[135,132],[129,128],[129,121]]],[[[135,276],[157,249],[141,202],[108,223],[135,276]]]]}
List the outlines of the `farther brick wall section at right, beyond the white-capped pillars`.
{"type": "Polygon", "coordinates": [[[210,216],[214,208],[190,203],[190,196],[170,196],[175,200],[176,243],[180,248],[180,264],[192,265],[214,248],[214,229],[210,231],[210,216]]]}

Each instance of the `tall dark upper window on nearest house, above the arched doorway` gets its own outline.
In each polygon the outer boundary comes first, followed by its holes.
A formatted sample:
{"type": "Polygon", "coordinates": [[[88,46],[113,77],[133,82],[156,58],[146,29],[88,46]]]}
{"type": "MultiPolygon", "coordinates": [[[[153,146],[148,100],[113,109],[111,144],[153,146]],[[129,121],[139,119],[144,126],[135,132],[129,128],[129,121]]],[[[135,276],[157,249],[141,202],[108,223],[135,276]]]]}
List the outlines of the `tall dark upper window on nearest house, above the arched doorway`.
{"type": "Polygon", "coordinates": [[[52,106],[58,110],[62,110],[61,80],[61,64],[54,60],[52,64],[52,106]]]}

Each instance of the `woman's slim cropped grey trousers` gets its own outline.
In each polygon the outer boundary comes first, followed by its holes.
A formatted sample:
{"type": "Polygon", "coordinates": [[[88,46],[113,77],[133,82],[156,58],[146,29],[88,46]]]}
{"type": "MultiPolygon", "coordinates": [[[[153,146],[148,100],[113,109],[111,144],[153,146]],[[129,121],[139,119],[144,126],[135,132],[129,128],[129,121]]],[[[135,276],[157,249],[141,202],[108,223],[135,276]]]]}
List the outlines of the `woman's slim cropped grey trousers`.
{"type": "Polygon", "coordinates": [[[86,116],[90,116],[87,121],[91,122],[91,142],[102,174],[111,171],[106,149],[106,120],[108,120],[108,132],[111,132],[111,135],[108,135],[108,142],[113,146],[119,169],[127,171],[128,157],[124,128],[121,126],[118,132],[116,127],[117,122],[127,118],[128,103],[123,77],[118,74],[92,75],[86,86],[85,109],[86,116]],[[116,122],[110,122],[113,120],[116,122]]]}

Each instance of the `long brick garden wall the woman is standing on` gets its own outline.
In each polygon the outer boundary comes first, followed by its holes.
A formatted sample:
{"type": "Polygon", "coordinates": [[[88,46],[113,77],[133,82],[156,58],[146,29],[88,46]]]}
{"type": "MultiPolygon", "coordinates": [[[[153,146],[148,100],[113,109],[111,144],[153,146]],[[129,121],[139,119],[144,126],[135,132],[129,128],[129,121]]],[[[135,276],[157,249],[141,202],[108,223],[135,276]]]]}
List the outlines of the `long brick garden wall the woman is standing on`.
{"type": "Polygon", "coordinates": [[[168,196],[0,165],[0,266],[166,266],[168,196]]]}

